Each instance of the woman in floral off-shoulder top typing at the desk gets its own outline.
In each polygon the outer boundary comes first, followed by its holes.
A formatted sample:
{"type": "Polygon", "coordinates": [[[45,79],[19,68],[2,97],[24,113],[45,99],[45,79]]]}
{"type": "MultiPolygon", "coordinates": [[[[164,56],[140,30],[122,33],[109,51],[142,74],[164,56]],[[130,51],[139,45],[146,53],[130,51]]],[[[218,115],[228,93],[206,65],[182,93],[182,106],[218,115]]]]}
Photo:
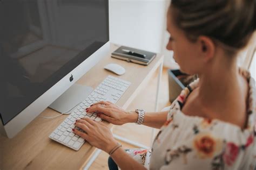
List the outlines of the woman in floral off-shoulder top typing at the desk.
{"type": "Polygon", "coordinates": [[[237,66],[237,53],[255,31],[254,6],[253,0],[173,0],[166,48],[183,72],[200,80],[169,111],[137,114],[110,102],[86,109],[112,124],[159,128],[152,152],[124,151],[105,125],[87,118],[76,122],[86,133],[75,133],[110,153],[121,169],[254,169],[255,87],[250,73],[237,66]]]}

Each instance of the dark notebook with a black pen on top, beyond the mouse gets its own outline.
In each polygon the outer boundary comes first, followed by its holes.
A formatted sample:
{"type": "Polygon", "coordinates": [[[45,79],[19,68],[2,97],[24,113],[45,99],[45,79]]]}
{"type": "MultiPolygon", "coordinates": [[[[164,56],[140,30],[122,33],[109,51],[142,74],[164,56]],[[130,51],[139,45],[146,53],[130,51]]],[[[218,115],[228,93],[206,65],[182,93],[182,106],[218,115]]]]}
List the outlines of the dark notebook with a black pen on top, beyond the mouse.
{"type": "Polygon", "coordinates": [[[125,60],[127,62],[134,62],[145,66],[149,65],[149,63],[156,58],[156,55],[156,53],[126,46],[120,46],[111,54],[112,58],[125,60]]]}

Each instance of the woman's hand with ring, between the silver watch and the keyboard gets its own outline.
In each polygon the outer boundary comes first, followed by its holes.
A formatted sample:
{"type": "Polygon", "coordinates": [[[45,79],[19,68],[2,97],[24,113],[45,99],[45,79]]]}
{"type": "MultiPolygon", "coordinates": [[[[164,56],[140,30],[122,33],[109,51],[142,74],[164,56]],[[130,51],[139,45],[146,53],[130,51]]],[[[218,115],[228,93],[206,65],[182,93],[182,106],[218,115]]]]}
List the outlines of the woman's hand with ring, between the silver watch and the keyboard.
{"type": "Polygon", "coordinates": [[[136,112],[125,111],[116,104],[104,101],[92,104],[91,107],[86,109],[86,112],[98,112],[98,117],[115,125],[135,123],[138,119],[136,112]]]}

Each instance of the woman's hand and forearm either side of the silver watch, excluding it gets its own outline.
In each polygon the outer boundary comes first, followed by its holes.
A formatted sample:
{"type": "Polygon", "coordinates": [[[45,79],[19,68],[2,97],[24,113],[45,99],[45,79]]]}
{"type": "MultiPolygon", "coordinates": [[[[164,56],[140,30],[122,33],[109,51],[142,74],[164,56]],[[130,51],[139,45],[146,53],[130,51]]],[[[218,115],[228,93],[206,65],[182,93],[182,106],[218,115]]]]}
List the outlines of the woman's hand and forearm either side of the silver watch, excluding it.
{"type": "MultiPolygon", "coordinates": [[[[115,125],[137,123],[138,114],[135,111],[125,111],[111,102],[98,102],[86,109],[86,112],[98,112],[98,116],[115,125]]],[[[146,112],[143,125],[161,128],[167,120],[167,111],[146,112]]]]}

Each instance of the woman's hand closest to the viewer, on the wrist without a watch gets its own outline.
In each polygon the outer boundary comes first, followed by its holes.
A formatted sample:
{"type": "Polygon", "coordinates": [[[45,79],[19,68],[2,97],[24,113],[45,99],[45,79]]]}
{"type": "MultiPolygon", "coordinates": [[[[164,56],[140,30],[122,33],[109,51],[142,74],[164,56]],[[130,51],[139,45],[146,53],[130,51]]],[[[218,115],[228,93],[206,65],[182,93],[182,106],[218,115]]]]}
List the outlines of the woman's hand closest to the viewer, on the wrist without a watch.
{"type": "Polygon", "coordinates": [[[77,129],[73,129],[73,132],[100,150],[109,153],[117,145],[117,141],[114,140],[110,129],[102,122],[95,122],[90,118],[82,118],[77,120],[75,125],[86,133],[77,129]]]}

